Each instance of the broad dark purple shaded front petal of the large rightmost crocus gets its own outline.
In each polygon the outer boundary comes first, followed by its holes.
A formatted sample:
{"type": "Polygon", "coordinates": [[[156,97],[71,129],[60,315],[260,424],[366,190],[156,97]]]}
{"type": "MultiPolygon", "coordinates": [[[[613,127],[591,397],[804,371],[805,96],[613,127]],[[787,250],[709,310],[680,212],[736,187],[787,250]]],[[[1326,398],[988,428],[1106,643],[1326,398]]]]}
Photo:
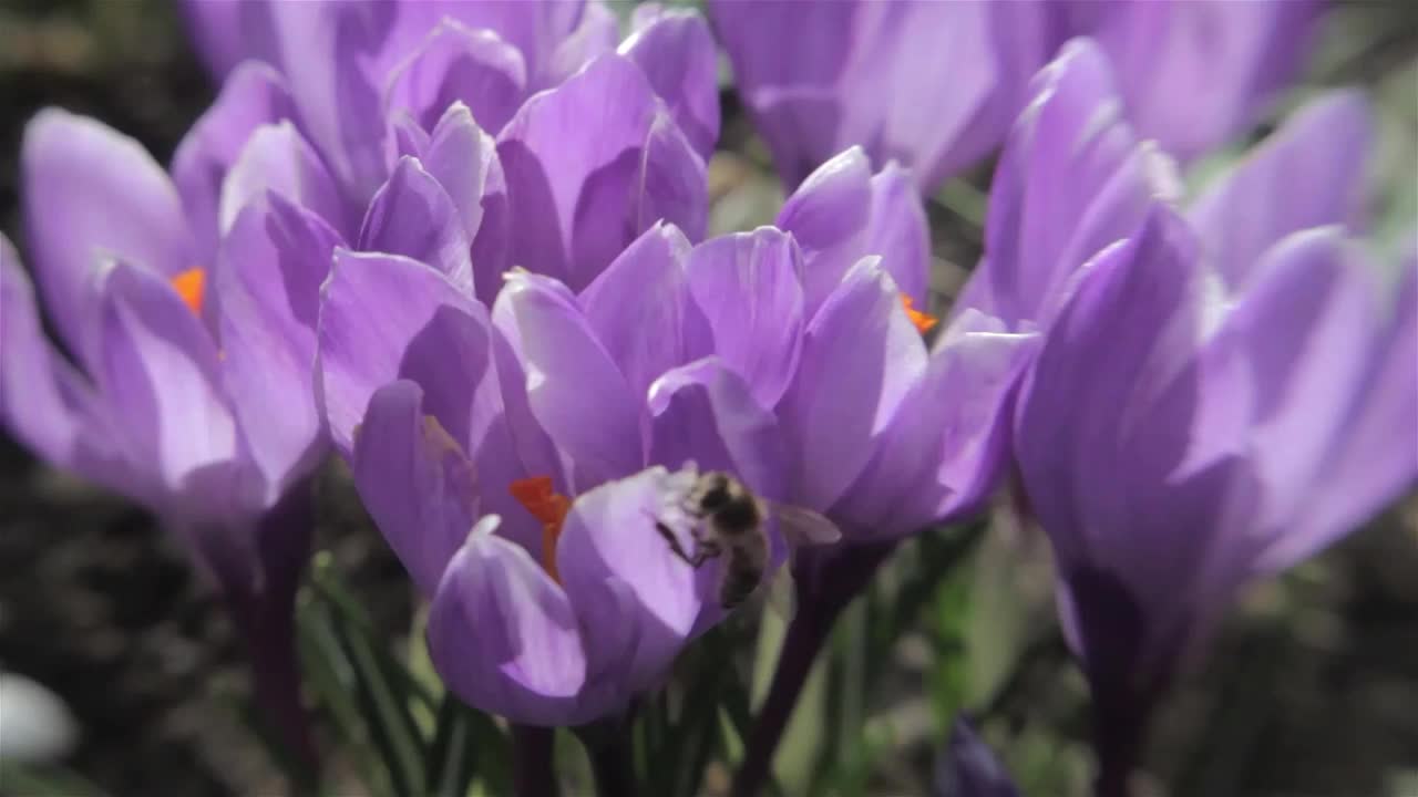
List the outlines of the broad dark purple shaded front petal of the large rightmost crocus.
{"type": "MultiPolygon", "coordinates": [[[[1210,549],[1236,520],[1236,458],[1194,451],[1204,384],[1195,353],[1210,301],[1197,262],[1195,241],[1160,206],[1134,238],[1100,254],[1049,328],[1017,421],[1029,506],[1073,600],[1116,603],[1122,590],[1156,620],[1137,632],[1176,631],[1177,615],[1195,607],[1178,596],[1201,600],[1194,586],[1210,549]],[[1099,591],[1105,583],[1113,587],[1099,591]]],[[[1095,631],[1083,630],[1085,644],[1095,631]]],[[[1126,647],[1144,655],[1140,640],[1126,647]]]]}

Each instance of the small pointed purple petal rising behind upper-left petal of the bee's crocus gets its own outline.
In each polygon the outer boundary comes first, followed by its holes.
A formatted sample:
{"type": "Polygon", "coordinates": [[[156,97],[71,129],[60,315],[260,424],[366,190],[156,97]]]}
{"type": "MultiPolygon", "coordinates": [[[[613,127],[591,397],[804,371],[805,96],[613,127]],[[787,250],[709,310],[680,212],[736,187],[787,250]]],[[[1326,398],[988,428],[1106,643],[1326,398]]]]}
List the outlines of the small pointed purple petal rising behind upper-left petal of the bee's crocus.
{"type": "Polygon", "coordinates": [[[467,227],[448,191],[414,157],[403,157],[374,199],[359,234],[360,250],[404,255],[441,271],[472,295],[467,227]]]}

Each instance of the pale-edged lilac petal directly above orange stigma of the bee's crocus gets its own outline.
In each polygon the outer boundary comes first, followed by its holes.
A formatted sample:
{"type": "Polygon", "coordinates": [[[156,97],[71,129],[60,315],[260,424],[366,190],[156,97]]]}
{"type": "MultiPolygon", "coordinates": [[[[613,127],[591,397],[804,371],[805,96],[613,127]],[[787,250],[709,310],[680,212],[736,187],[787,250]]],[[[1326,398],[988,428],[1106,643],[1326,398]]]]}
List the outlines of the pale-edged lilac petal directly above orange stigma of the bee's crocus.
{"type": "Polygon", "coordinates": [[[498,302],[516,325],[532,413],[576,464],[573,489],[638,471],[645,400],[596,339],[576,296],[560,282],[519,272],[498,302]]]}

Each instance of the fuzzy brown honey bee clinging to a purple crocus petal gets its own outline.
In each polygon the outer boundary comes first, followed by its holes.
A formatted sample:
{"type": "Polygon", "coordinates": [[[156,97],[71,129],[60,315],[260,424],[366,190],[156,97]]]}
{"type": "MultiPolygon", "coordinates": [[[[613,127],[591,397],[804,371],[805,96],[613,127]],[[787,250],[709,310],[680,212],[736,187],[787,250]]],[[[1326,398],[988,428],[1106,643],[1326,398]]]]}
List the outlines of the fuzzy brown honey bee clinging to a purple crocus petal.
{"type": "Polygon", "coordinates": [[[655,529],[665,537],[669,550],[691,567],[723,557],[719,606],[725,610],[743,604],[763,581],[771,557],[770,512],[783,532],[795,540],[824,543],[837,542],[841,536],[831,520],[815,512],[766,501],[723,471],[698,474],[689,468],[693,482],[681,509],[692,520],[693,553],[685,550],[679,535],[664,519],[655,519],[655,529]]]}

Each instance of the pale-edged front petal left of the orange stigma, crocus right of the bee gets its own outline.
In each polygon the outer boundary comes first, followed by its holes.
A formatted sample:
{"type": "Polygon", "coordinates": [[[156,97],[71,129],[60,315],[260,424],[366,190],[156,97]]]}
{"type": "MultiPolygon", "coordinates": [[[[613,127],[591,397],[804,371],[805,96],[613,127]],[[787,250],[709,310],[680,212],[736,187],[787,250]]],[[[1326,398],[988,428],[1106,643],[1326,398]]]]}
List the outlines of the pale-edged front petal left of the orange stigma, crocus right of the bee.
{"type": "Polygon", "coordinates": [[[875,441],[926,370],[926,346],[878,258],[864,258],[808,323],[780,417],[794,502],[825,511],[866,467],[875,441]]]}

